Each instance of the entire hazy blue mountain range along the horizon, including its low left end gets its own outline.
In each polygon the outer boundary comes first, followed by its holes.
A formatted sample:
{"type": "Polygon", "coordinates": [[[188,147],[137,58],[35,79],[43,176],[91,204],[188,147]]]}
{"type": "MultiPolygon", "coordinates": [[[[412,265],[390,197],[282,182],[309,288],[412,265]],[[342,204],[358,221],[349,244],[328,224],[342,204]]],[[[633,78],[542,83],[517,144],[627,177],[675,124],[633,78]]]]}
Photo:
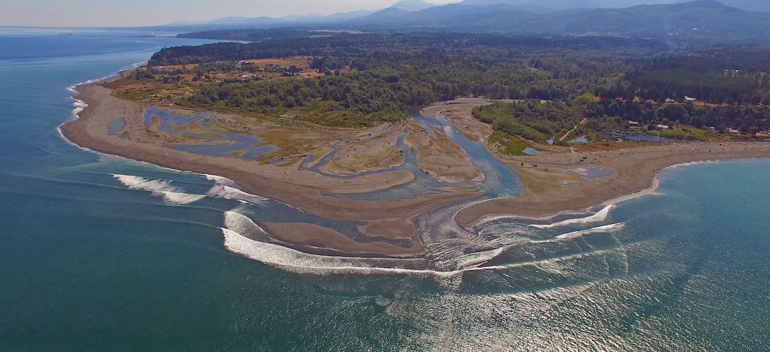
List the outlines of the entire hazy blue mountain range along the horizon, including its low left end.
{"type": "Polygon", "coordinates": [[[399,31],[432,28],[614,35],[687,42],[770,42],[770,12],[748,12],[716,0],[597,8],[596,4],[602,2],[609,0],[539,0],[536,4],[532,0],[464,0],[449,5],[402,0],[377,12],[360,10],[328,16],[220,18],[193,30],[292,26],[399,31]],[[568,7],[570,5],[581,7],[568,7]]]}

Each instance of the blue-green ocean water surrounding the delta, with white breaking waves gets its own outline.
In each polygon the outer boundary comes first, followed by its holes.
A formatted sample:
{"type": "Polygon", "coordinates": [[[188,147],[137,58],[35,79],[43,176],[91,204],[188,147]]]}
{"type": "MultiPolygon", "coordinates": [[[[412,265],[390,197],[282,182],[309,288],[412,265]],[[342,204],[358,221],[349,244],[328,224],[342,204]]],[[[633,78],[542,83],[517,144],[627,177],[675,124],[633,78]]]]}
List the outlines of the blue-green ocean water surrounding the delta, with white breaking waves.
{"type": "Polygon", "coordinates": [[[441,210],[430,265],[324,261],[249,223],[323,220],[59,135],[67,87],[204,41],[58,32],[0,31],[0,350],[770,350],[770,160],[470,233],[441,210]]]}

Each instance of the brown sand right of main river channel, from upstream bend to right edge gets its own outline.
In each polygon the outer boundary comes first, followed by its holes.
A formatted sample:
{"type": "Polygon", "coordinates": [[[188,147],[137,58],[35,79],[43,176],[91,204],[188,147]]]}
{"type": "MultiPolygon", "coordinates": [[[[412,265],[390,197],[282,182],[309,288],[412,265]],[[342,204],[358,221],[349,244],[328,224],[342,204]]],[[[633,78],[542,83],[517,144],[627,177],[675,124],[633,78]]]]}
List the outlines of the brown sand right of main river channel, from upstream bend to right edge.
{"type": "MultiPolygon", "coordinates": [[[[484,141],[491,126],[471,115],[472,106],[488,99],[460,99],[438,102],[421,109],[430,119],[443,115],[460,132],[484,141]]],[[[619,145],[614,145],[616,147],[619,145]]],[[[566,213],[585,213],[594,206],[614,204],[654,193],[663,169],[713,160],[770,158],[768,141],[732,142],[629,142],[621,148],[577,152],[574,148],[536,146],[537,156],[506,156],[484,149],[494,159],[514,170],[525,186],[517,198],[486,199],[455,214],[460,226],[474,226],[490,218],[547,219],[566,213]],[[561,149],[561,150],[559,150],[561,149]],[[554,153],[558,150],[561,153],[554,153]],[[574,170],[600,168],[611,176],[588,179],[574,170]],[[559,184],[557,184],[559,183],[559,184]],[[563,186],[564,183],[577,183],[563,186]]]]}

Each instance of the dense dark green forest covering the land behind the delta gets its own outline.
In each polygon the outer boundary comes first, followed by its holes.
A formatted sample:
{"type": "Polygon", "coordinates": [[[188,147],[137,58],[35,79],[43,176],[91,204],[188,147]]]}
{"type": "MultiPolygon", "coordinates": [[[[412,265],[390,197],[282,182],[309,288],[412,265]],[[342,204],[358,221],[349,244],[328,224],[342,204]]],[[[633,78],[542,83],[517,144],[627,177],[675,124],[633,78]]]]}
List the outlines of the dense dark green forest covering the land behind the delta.
{"type": "Polygon", "coordinates": [[[527,102],[527,109],[514,104],[505,113],[516,119],[489,121],[536,140],[563,132],[584,117],[671,121],[749,134],[768,129],[765,58],[770,49],[760,46],[672,52],[660,42],[611,37],[290,34],[266,42],[163,49],[149,65],[199,63],[197,75],[206,75],[237,60],[297,55],[312,57],[310,66],[326,75],[290,81],[257,76],[201,85],[177,103],[259,114],[299,110],[310,122],[353,127],[393,122],[410,108],[461,96],[553,102],[527,102]],[[350,72],[340,74],[340,69],[350,72]],[[598,100],[584,99],[586,94],[598,100]],[[710,105],[685,104],[685,97],[710,105]],[[666,104],[667,99],[675,103],[666,104]]]}

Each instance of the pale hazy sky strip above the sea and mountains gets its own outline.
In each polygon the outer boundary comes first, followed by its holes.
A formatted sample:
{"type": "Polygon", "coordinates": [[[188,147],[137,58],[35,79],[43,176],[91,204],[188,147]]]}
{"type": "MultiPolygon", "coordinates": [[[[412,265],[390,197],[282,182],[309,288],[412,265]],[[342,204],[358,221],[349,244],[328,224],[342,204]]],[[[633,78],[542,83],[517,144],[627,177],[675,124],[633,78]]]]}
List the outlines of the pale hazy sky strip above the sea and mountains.
{"type": "MultiPolygon", "coordinates": [[[[433,3],[457,0],[428,0],[433,3]]],[[[0,0],[0,25],[133,26],[386,8],[397,0],[0,0]]]]}

